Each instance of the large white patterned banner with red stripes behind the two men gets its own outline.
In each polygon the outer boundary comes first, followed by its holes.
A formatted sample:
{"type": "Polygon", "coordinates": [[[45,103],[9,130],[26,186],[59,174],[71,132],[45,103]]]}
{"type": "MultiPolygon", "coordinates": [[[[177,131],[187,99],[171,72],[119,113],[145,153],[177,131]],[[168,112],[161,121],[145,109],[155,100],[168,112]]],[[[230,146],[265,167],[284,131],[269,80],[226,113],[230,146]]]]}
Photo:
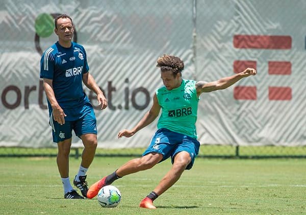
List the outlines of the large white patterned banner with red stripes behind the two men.
{"type": "MultiPolygon", "coordinates": [[[[183,78],[215,81],[245,67],[258,75],[202,94],[201,144],[306,145],[304,1],[9,1],[0,3],[0,146],[52,147],[39,79],[42,52],[54,42],[54,17],[69,14],[90,73],[109,107],[95,110],[98,146],[146,147],[157,121],[132,138],[162,85],[162,54],[185,62],[183,78]],[[275,4],[272,4],[275,2],[275,4]]],[[[84,88],[92,104],[95,95],[84,88]]],[[[74,146],[82,146],[73,136],[74,146]]]]}

